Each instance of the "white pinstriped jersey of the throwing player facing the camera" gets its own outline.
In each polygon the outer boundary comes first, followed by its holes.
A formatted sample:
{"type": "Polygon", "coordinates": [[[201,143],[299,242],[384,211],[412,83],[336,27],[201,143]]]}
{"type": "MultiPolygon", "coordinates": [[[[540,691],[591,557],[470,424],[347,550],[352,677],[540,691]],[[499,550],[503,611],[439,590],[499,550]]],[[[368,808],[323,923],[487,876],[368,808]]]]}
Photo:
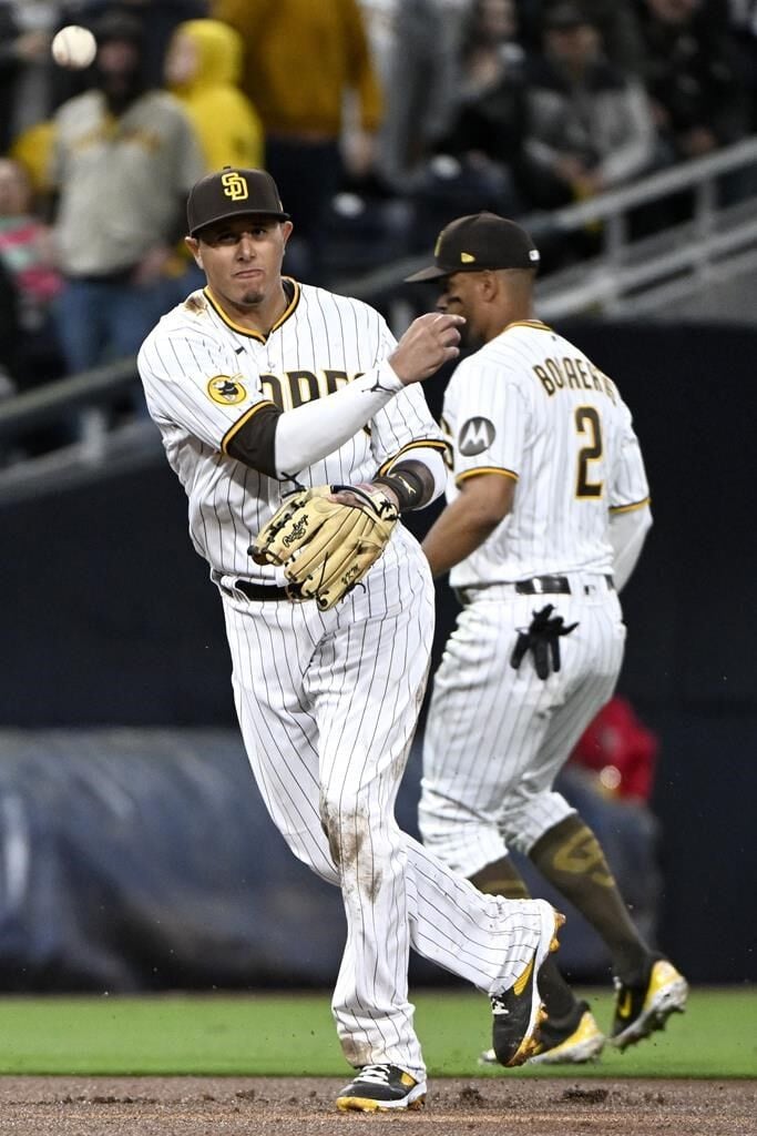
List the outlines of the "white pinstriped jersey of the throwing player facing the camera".
{"type": "Polygon", "coordinates": [[[225,453],[256,407],[291,410],[371,370],[395,339],[373,308],[286,281],[291,302],[268,336],[220,311],[207,290],[163,316],[142,345],[138,369],[171,468],[190,499],[196,551],[220,575],[280,582],[247,549],[297,485],[370,481],[404,449],[444,448],[418,384],[407,386],[353,438],[308,469],[277,481],[225,453]]]}

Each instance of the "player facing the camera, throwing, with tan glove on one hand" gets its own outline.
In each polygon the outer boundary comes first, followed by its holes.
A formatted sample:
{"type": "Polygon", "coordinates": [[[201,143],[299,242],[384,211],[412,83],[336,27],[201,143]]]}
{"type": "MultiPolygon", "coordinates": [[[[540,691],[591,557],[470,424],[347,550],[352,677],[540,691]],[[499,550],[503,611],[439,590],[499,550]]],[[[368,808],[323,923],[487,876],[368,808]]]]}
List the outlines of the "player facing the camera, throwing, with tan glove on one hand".
{"type": "Polygon", "coordinates": [[[398,515],[443,490],[418,383],[457,356],[463,320],[423,316],[396,343],[367,304],[283,277],[293,226],[264,172],[208,175],[187,216],[207,287],[145,340],[148,406],[219,590],[260,792],[294,854],[342,889],[333,1011],[358,1072],[338,1108],[419,1108],[410,946],[491,997],[497,1059],[519,1064],[562,922],[545,901],[483,895],[393,812],[434,620],[398,515]]]}

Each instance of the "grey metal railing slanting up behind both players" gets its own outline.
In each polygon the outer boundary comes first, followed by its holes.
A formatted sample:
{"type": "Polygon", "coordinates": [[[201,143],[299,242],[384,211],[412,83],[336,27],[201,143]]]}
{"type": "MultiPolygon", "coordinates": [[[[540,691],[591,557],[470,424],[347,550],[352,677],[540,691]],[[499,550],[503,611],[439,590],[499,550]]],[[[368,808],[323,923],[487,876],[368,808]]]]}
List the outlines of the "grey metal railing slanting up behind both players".
{"type": "MultiPolygon", "coordinates": [[[[591,259],[539,281],[538,314],[556,319],[580,314],[623,317],[658,311],[713,282],[757,270],[757,136],[706,158],[683,162],[622,190],[550,214],[519,218],[537,242],[599,226],[591,259]],[[747,191],[729,203],[724,179],[740,176],[747,191]],[[634,210],[689,192],[684,222],[634,239],[634,210]]],[[[402,333],[415,314],[401,282],[428,260],[399,262],[335,286],[344,295],[378,304],[402,333]]],[[[757,319],[757,308],[755,310],[757,319]]],[[[0,503],[83,481],[92,467],[123,469],[157,460],[157,429],[146,419],[112,427],[107,407],[137,383],[134,360],[56,381],[0,403],[0,460],[9,441],[60,419],[78,419],[76,441],[59,451],[0,468],[0,503]]]]}

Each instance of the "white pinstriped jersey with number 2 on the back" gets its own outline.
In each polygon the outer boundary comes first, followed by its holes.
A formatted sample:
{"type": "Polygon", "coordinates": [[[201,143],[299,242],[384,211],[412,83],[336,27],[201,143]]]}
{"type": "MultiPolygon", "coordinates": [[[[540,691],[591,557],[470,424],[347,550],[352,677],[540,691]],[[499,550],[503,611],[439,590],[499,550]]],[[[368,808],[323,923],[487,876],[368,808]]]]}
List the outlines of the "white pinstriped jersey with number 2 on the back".
{"type": "Polygon", "coordinates": [[[444,399],[453,445],[447,501],[466,477],[516,482],[512,512],[462,563],[455,587],[552,573],[612,573],[608,512],[649,488],[615,384],[539,320],[511,324],[456,368],[444,399]]]}

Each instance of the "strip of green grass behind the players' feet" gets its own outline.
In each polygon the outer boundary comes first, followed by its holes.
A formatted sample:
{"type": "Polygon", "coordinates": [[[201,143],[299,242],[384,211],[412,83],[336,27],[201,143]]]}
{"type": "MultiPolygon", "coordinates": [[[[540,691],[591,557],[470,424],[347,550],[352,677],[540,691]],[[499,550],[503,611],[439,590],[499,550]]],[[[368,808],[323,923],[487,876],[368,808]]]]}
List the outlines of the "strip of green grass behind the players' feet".
{"type": "MultiPolygon", "coordinates": [[[[584,992],[603,1025],[612,995],[584,992]]],[[[757,989],[695,989],[665,1033],[595,1066],[485,1070],[486,999],[414,994],[429,1072],[437,1077],[755,1077],[757,989]]],[[[0,999],[0,1075],[343,1076],[329,995],[0,999]]]]}

